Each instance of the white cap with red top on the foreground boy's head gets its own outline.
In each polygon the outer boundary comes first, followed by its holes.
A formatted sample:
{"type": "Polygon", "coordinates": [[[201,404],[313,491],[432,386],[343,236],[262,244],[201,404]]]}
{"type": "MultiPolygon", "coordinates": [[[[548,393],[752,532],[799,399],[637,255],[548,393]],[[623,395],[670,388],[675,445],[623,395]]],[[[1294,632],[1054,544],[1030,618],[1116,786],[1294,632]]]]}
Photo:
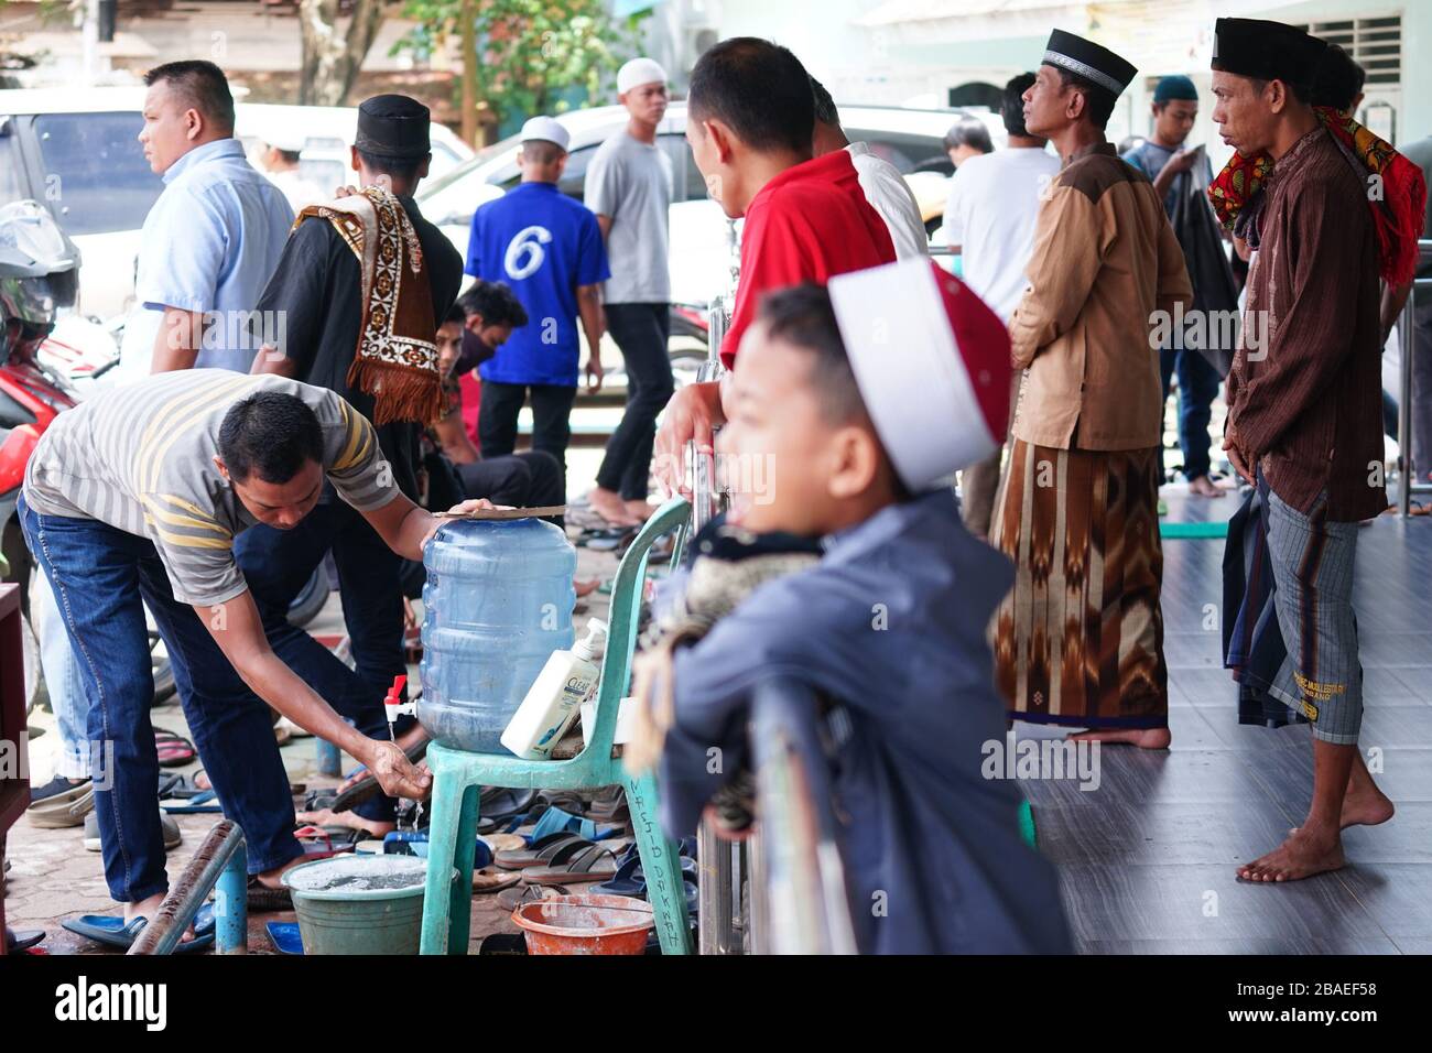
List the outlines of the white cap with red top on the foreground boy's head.
{"type": "Polygon", "coordinates": [[[831,279],[855,383],[901,481],[929,490],[1004,444],[1010,334],[928,259],[831,279]]]}

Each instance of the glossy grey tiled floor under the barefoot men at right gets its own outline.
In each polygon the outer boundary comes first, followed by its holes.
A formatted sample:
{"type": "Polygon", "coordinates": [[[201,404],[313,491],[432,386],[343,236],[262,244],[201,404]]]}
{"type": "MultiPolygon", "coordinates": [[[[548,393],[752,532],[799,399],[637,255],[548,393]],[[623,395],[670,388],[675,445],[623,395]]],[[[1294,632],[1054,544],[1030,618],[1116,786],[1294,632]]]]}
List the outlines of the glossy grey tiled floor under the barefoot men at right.
{"type": "MultiPolygon", "coordinates": [[[[1227,517],[1170,494],[1170,519],[1227,517]]],[[[1306,728],[1237,723],[1220,662],[1221,540],[1164,542],[1173,748],[1101,751],[1098,789],[1025,782],[1040,847],[1058,868],[1081,951],[1395,954],[1432,947],[1432,521],[1362,529],[1356,593],[1366,716],[1360,746],[1396,802],[1382,827],[1345,835],[1348,867],[1296,884],[1236,880],[1312,795],[1306,728]],[[1211,607],[1209,606],[1211,605],[1211,607]],[[1369,755],[1369,751],[1378,751],[1369,755]]],[[[1021,735],[1051,735],[1020,725],[1021,735]]]]}

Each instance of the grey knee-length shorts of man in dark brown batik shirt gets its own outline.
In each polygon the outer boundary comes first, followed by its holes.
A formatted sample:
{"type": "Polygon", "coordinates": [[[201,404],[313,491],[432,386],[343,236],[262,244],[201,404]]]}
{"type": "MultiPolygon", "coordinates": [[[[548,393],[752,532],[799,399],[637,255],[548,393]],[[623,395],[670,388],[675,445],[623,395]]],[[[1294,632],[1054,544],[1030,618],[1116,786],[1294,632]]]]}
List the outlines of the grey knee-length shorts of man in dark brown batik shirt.
{"type": "Polygon", "coordinates": [[[1326,493],[1303,514],[1269,490],[1267,546],[1277,626],[1287,645],[1269,692],[1307,718],[1313,738],[1356,745],[1362,728],[1362,665],[1352,609],[1358,524],[1330,521],[1326,493]]]}

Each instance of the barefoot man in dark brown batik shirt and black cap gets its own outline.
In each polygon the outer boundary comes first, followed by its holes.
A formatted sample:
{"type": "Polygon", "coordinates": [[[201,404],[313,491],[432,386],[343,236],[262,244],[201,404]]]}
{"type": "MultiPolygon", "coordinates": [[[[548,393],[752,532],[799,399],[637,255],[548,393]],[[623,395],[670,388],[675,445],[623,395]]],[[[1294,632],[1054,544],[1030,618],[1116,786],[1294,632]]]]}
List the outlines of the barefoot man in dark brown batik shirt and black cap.
{"type": "Polygon", "coordinates": [[[1352,609],[1358,523],[1386,507],[1378,235],[1366,172],[1307,103],[1325,42],[1252,19],[1219,19],[1214,34],[1213,119],[1243,156],[1274,162],[1244,205],[1262,211],[1223,447],[1267,500],[1287,648],[1269,691],[1313,729],[1307,819],[1239,877],[1296,881],[1343,865],[1343,827],[1392,817],[1358,752],[1352,609]]]}

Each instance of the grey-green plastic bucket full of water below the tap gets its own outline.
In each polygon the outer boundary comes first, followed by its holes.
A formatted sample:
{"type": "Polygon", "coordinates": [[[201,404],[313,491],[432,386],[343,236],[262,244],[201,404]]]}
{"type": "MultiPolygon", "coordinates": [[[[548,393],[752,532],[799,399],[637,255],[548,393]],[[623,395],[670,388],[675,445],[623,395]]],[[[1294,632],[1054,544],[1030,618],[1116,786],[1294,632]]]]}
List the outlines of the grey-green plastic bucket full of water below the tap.
{"type": "Polygon", "coordinates": [[[412,855],[335,855],[284,874],[305,954],[417,954],[425,883],[427,860],[412,855]]]}

